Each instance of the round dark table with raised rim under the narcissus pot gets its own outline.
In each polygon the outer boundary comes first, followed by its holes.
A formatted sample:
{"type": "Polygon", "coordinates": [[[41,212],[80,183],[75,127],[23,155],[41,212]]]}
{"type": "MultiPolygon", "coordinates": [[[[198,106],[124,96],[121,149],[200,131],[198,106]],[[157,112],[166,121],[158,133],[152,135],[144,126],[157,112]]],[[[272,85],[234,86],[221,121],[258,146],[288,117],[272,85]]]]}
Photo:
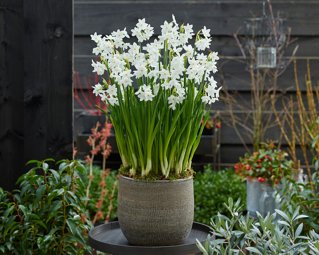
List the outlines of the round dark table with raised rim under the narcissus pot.
{"type": "MultiPolygon", "coordinates": [[[[89,244],[98,251],[113,255],[187,255],[199,252],[196,246],[198,239],[204,246],[210,227],[193,222],[189,236],[182,244],[174,246],[144,247],[133,246],[124,237],[119,222],[110,222],[94,227],[89,231],[89,244]]],[[[211,241],[215,236],[211,236],[211,241]]]]}

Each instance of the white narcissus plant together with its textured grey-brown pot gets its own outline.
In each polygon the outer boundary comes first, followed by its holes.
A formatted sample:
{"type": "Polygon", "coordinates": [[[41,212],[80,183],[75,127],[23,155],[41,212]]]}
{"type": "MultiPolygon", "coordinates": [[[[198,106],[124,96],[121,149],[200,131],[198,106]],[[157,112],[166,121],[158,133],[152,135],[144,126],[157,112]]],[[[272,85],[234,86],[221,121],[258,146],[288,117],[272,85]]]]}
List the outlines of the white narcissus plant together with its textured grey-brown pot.
{"type": "Polygon", "coordinates": [[[158,39],[145,47],[141,42],[154,33],[145,18],[131,30],[137,43],[124,42],[126,28],[106,37],[91,35],[97,43],[93,53],[101,59],[92,60],[93,72],[107,72],[111,82],[103,79],[93,92],[108,108],[98,107],[112,121],[122,158],[119,224],[130,244],[139,246],[177,245],[189,235],[192,158],[205,106],[218,100],[220,91],[211,76],[217,71],[217,53],[202,52],[209,48],[210,29],[201,29],[195,45],[189,45],[195,35],[192,25],[179,27],[173,15],[161,28],[158,39]]]}

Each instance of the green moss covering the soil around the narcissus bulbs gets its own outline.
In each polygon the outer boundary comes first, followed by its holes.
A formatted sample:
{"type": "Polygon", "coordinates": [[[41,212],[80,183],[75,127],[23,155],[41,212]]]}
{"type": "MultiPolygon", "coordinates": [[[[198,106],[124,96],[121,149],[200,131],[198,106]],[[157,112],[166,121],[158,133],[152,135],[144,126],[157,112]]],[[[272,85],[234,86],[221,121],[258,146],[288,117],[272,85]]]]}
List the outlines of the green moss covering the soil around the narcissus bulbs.
{"type": "Polygon", "coordinates": [[[119,169],[119,173],[123,176],[132,178],[134,180],[146,180],[147,182],[157,181],[157,180],[178,180],[178,179],[184,179],[189,178],[190,176],[194,176],[196,172],[193,171],[191,168],[190,170],[183,171],[182,173],[176,173],[174,169],[171,169],[169,175],[165,177],[165,175],[162,174],[161,169],[158,170],[158,174],[155,174],[154,172],[149,172],[148,175],[142,175],[142,169],[139,167],[136,170],[136,175],[130,174],[130,168],[124,167],[121,165],[119,169]]]}

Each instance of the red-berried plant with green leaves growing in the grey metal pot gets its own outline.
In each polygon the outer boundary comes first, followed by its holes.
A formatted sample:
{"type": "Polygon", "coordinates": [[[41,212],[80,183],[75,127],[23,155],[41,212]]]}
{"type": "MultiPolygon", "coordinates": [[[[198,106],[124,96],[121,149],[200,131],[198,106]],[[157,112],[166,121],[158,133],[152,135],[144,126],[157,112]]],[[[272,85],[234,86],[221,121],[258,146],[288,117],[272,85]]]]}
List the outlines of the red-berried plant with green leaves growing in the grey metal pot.
{"type": "Polygon", "coordinates": [[[235,164],[235,178],[242,181],[257,180],[264,182],[271,180],[272,184],[291,173],[293,161],[287,160],[285,151],[276,149],[275,141],[261,143],[260,149],[251,156],[246,152],[245,157],[239,157],[240,162],[235,164]]]}

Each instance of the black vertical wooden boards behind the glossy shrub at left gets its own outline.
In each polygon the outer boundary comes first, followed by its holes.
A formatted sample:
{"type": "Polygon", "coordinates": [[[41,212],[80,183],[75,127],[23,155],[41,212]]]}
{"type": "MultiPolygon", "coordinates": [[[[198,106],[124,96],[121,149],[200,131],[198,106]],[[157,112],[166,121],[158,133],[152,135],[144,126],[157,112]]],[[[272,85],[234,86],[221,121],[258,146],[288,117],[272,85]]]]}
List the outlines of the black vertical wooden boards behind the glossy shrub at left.
{"type": "Polygon", "coordinates": [[[0,186],[12,190],[27,161],[72,158],[72,1],[1,1],[0,41],[0,186]]]}

